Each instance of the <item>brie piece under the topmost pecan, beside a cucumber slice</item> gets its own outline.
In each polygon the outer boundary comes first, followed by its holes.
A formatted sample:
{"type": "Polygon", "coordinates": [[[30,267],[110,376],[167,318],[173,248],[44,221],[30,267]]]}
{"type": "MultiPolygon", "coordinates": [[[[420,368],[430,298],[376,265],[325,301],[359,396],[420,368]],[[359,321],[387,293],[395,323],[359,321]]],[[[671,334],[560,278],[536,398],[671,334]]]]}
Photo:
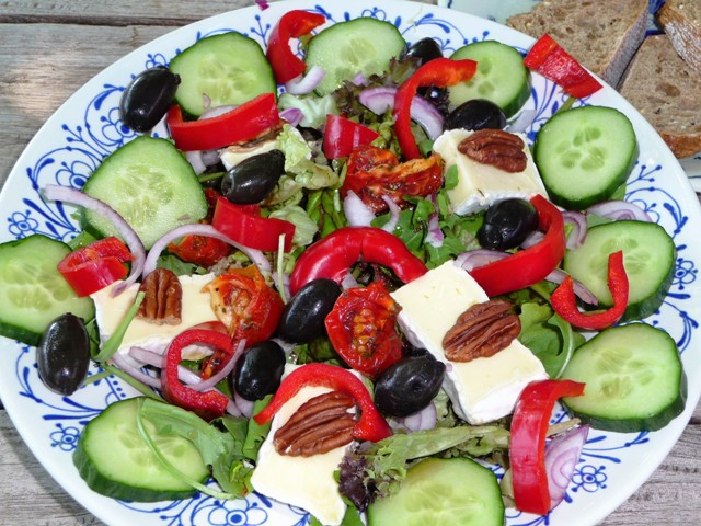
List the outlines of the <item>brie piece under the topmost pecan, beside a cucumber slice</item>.
{"type": "Polygon", "coordinates": [[[444,173],[452,167],[458,170],[458,185],[448,191],[455,214],[466,216],[486,208],[490,204],[508,198],[529,199],[536,194],[548,197],[524,134],[524,153],[527,164],[522,172],[509,173],[491,164],[482,164],[458,151],[458,145],[474,132],[450,129],[434,142],[434,151],[445,161],[444,173]]]}

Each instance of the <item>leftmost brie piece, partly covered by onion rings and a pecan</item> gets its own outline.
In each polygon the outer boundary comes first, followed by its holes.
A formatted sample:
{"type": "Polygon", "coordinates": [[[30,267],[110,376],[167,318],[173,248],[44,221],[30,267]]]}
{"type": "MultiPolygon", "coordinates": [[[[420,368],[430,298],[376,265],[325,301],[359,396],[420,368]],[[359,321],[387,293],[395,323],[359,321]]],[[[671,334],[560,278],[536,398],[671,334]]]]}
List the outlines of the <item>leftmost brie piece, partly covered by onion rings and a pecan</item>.
{"type": "MultiPolygon", "coordinates": [[[[182,321],[176,325],[159,325],[150,323],[139,318],[134,318],[124,334],[118,353],[129,357],[129,347],[138,346],[161,353],[171,341],[185,329],[189,329],[198,323],[217,320],[217,315],[211,309],[209,291],[202,291],[203,287],[214,279],[214,274],[179,276],[183,289],[182,321]]],[[[100,329],[100,341],[105,342],[116,331],[124,319],[127,310],[134,305],[136,295],[139,291],[139,284],[135,283],[117,297],[112,297],[112,289],[118,282],[91,295],[95,302],[95,320],[100,329]]],[[[197,359],[210,351],[191,345],[186,347],[183,357],[197,359]]],[[[135,366],[139,366],[130,358],[135,366]]]]}

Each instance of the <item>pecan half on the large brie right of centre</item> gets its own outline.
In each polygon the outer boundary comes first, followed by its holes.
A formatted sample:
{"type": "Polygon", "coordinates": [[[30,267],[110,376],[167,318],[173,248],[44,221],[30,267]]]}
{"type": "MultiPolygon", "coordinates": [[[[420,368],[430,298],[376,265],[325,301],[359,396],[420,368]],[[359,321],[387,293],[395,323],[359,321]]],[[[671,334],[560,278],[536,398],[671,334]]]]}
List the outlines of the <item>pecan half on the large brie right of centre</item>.
{"type": "Polygon", "coordinates": [[[490,357],[510,345],[521,331],[512,304],[491,299],[466,310],[443,339],[446,358],[470,362],[490,357]]]}

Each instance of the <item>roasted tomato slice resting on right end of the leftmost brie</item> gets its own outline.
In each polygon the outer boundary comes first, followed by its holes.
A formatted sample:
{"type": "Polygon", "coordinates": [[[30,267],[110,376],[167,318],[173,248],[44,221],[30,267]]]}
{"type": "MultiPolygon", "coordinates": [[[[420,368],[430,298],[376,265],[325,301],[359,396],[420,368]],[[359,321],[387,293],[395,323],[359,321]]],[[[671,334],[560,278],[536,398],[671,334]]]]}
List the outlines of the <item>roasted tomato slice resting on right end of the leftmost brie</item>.
{"type": "Polygon", "coordinates": [[[230,268],[204,289],[211,294],[211,308],[234,342],[245,339],[246,347],[273,335],[285,308],[255,265],[230,268]]]}

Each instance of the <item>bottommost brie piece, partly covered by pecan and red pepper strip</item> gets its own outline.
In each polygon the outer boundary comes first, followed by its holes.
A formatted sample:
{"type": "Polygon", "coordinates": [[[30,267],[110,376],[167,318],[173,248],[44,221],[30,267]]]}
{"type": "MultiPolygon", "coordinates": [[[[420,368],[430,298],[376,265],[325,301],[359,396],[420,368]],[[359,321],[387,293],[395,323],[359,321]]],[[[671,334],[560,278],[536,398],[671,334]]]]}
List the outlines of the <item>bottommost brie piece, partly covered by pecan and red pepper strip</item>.
{"type": "MultiPolygon", "coordinates": [[[[297,367],[287,365],[285,373],[297,367]]],[[[292,457],[280,455],[273,441],[275,432],[285,425],[297,409],[308,400],[330,392],[326,387],[303,387],[273,418],[271,432],[258,450],[258,459],[251,483],[255,491],[271,499],[299,506],[323,525],[338,525],[346,512],[346,504],[338,493],[334,471],[338,469],[343,456],[353,443],[336,447],[322,455],[292,457]]]]}

